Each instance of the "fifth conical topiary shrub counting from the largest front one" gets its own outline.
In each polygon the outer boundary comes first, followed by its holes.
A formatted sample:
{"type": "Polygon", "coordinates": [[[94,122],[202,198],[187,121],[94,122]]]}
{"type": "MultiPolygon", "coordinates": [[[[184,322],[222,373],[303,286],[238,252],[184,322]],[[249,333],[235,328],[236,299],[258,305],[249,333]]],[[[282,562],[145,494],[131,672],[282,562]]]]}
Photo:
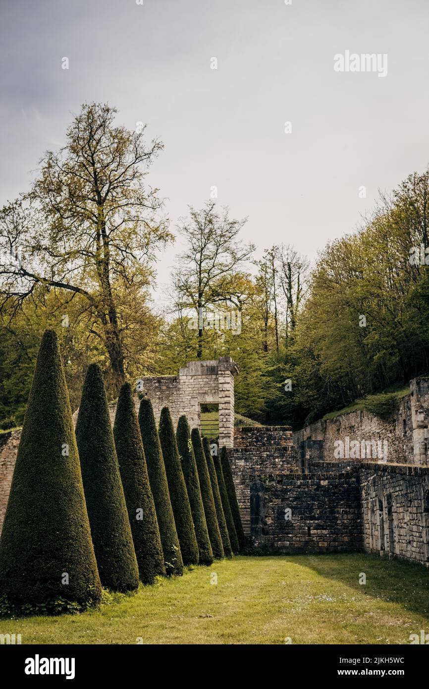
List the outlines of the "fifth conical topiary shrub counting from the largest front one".
{"type": "Polygon", "coordinates": [[[193,528],[191,506],[168,407],[161,410],[159,440],[163,451],[171,507],[173,508],[174,522],[176,522],[183,564],[198,564],[198,543],[193,528]]]}

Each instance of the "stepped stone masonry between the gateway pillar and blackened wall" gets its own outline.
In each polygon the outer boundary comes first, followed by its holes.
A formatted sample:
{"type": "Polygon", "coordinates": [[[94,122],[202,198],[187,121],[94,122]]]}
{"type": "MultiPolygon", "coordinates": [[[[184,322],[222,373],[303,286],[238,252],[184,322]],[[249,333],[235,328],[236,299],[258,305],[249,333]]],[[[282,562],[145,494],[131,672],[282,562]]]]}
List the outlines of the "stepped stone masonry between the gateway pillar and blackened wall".
{"type": "Polygon", "coordinates": [[[244,534],[250,535],[250,484],[256,475],[300,473],[292,431],[284,426],[242,426],[234,429],[228,451],[244,534]]]}

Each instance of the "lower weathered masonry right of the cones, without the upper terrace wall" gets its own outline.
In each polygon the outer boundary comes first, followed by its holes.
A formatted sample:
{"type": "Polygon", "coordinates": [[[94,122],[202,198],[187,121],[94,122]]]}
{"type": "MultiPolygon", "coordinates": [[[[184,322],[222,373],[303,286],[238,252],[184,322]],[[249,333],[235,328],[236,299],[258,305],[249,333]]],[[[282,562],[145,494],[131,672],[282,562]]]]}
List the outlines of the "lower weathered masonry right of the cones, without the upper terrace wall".
{"type": "Polygon", "coordinates": [[[363,548],[429,566],[429,467],[324,462],[321,441],[303,458],[291,435],[236,429],[229,459],[251,543],[282,553],[363,548]]]}

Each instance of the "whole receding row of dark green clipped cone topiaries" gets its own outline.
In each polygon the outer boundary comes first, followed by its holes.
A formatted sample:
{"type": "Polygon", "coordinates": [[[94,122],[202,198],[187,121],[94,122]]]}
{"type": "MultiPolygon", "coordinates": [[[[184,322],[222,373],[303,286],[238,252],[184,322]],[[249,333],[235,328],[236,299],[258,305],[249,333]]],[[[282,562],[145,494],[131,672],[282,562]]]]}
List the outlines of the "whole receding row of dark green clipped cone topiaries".
{"type": "Polygon", "coordinates": [[[0,614],[85,610],[114,591],[209,565],[244,545],[226,449],[176,434],[169,409],[159,433],[149,399],[138,417],[121,388],[114,429],[101,369],[85,376],[76,433],[58,340],[39,350],[0,538],[0,614]]]}

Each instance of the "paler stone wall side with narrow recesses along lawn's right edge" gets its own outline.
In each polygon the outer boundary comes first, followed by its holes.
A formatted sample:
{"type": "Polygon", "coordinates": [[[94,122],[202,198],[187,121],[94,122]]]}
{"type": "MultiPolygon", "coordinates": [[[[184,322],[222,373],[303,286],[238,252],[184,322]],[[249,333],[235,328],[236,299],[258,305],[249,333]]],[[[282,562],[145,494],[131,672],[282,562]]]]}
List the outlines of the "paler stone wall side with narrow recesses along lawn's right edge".
{"type": "Polygon", "coordinates": [[[429,468],[364,464],[364,548],[429,564],[429,468]]]}

